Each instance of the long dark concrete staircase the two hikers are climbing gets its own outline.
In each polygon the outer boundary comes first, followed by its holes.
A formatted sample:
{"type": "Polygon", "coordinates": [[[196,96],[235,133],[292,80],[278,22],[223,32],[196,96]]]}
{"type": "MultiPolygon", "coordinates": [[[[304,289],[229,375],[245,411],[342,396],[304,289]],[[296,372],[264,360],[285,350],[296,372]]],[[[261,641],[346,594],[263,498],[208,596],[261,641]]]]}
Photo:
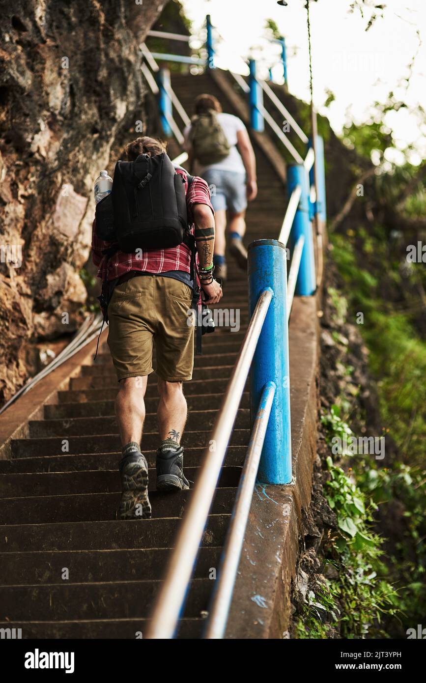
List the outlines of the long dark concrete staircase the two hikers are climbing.
{"type": "MultiPolygon", "coordinates": [[[[178,77],[173,87],[190,111],[198,92],[214,92],[208,76],[178,77]]],[[[225,111],[231,107],[223,102],[225,111]]],[[[276,237],[285,210],[283,184],[257,149],[259,198],[248,211],[246,242],[276,237]]],[[[248,324],[246,273],[229,257],[221,308],[240,309],[240,331],[203,337],[192,382],[184,391],[185,473],[196,482],[199,462],[248,324]]],[[[148,381],[142,449],[150,467],[151,520],[115,520],[120,458],[114,398],[117,380],[106,344],[82,365],[68,390],[29,421],[25,438],[0,460],[0,628],[23,638],[135,638],[145,631],[170,548],[191,490],[156,492],[155,374],[148,381]]],[[[10,411],[14,410],[12,406],[10,411]]],[[[250,434],[248,387],[229,445],[190,586],[180,637],[201,635],[250,434]]],[[[193,486],[193,484],[191,484],[193,486]]]]}

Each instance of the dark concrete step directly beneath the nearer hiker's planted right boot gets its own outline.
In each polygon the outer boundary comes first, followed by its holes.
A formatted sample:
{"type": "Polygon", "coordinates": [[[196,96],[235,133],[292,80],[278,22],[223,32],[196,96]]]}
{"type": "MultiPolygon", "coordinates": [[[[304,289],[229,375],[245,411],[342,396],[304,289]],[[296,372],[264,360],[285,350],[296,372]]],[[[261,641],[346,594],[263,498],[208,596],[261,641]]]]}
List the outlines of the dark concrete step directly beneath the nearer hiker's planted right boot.
{"type": "MultiPolygon", "coordinates": [[[[226,468],[225,468],[226,469],[226,468]]],[[[25,475],[16,475],[25,477],[25,475]]],[[[33,475],[35,476],[35,475],[33,475]]],[[[46,475],[48,476],[48,475],[46,475]]],[[[236,474],[225,475],[231,482],[238,482],[236,474]]],[[[150,492],[152,518],[181,517],[191,497],[192,490],[164,493],[150,492]]],[[[213,514],[230,513],[235,487],[218,488],[212,506],[213,514]]],[[[68,495],[29,496],[26,498],[0,499],[0,529],[2,525],[48,524],[50,522],[102,522],[115,520],[119,507],[119,493],[74,493],[68,495]]],[[[141,523],[147,520],[137,520],[141,523]]]]}

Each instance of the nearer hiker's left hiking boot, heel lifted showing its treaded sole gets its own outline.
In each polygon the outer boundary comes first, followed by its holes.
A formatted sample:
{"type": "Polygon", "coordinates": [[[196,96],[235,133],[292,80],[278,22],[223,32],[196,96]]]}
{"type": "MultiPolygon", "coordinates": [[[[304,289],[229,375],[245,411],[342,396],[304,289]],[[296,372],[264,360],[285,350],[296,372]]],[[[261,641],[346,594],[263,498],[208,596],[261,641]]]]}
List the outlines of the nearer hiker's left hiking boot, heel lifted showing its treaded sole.
{"type": "Polygon", "coordinates": [[[145,456],[138,451],[132,451],[120,460],[119,471],[122,477],[122,499],[117,517],[119,519],[150,519],[148,465],[145,456]]]}

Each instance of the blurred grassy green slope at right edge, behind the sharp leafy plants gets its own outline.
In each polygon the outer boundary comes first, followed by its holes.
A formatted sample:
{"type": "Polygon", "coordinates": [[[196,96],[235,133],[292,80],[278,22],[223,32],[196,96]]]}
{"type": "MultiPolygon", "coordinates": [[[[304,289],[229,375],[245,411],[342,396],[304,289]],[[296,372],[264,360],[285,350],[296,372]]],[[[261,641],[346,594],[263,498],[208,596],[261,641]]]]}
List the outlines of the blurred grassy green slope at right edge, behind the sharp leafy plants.
{"type": "MultiPolygon", "coordinates": [[[[363,251],[374,249],[379,259],[380,252],[388,248],[386,242],[365,234],[363,228],[358,238],[365,240],[363,251]]],[[[334,234],[331,242],[332,258],[347,284],[352,319],[358,311],[364,313],[364,324],[359,327],[378,380],[383,423],[397,444],[399,458],[420,464],[426,457],[426,344],[416,333],[410,312],[397,311],[378,296],[378,279],[358,266],[351,241],[334,234]]],[[[398,283],[401,276],[397,267],[393,277],[398,283]]]]}

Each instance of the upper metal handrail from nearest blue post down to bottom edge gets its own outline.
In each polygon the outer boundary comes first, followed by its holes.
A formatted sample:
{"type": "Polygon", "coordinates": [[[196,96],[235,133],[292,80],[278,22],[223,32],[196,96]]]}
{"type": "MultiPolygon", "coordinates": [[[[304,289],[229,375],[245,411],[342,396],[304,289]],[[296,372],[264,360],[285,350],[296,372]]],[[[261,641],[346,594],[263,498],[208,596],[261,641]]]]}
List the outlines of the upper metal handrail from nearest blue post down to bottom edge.
{"type": "Polygon", "coordinates": [[[201,471],[193,490],[193,497],[182,521],[165,582],[160,589],[156,609],[148,627],[148,639],[169,639],[173,637],[175,632],[186,590],[193,574],[195,559],[203,538],[205,521],[210,512],[244,385],[266,313],[272,301],[272,295],[271,288],[266,288],[261,292],[248,324],[244,342],[225,391],[221,411],[214,423],[210,444],[215,449],[210,451],[210,446],[205,450],[201,471]]]}

